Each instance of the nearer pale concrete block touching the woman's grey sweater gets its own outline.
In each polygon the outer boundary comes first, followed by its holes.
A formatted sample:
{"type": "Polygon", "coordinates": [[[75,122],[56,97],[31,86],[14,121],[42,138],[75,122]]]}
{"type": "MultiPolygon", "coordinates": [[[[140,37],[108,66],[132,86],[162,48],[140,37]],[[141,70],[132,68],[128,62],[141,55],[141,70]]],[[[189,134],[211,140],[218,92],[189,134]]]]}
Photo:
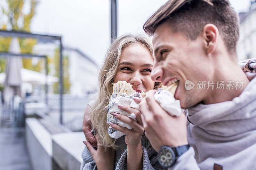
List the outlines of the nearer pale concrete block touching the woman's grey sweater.
{"type": "Polygon", "coordinates": [[[52,135],[53,159],[61,169],[77,170],[83,161],[81,153],[85,140],[83,132],[52,135]]]}

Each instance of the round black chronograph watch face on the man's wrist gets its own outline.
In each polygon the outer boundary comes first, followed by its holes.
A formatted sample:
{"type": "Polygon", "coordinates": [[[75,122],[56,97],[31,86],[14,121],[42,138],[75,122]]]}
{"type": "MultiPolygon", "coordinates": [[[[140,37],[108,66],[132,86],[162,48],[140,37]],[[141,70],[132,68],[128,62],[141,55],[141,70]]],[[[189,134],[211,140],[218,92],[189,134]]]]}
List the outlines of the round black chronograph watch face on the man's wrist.
{"type": "Polygon", "coordinates": [[[175,155],[171,148],[163,146],[158,152],[158,161],[163,167],[170,167],[175,161],[175,155]]]}

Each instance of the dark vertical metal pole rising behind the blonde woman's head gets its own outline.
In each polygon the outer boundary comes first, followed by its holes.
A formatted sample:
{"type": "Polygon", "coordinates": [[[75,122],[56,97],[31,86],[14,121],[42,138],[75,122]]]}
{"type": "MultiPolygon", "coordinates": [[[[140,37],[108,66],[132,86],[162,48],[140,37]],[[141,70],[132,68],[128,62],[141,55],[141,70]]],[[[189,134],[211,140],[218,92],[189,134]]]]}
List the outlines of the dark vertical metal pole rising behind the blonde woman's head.
{"type": "Polygon", "coordinates": [[[116,0],[111,0],[111,42],[116,39],[116,0]]]}

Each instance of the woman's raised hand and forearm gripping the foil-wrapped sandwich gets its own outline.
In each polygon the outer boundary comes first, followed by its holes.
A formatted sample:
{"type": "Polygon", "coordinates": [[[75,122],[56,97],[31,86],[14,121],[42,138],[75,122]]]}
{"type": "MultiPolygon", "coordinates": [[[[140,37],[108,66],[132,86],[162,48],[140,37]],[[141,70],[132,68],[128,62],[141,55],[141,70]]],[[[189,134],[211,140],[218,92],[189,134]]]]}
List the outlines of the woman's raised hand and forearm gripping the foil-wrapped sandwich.
{"type": "Polygon", "coordinates": [[[125,143],[127,144],[127,160],[126,160],[126,169],[142,169],[143,166],[143,150],[141,146],[141,137],[144,132],[144,128],[141,120],[141,113],[139,110],[131,108],[127,105],[118,105],[118,108],[128,112],[129,114],[134,113],[136,116],[136,120],[133,120],[130,117],[124,116],[122,114],[118,114],[112,112],[113,117],[121,120],[124,123],[129,124],[132,129],[127,129],[125,127],[121,127],[117,124],[113,124],[109,122],[110,126],[116,129],[117,131],[121,131],[126,134],[125,143]]]}

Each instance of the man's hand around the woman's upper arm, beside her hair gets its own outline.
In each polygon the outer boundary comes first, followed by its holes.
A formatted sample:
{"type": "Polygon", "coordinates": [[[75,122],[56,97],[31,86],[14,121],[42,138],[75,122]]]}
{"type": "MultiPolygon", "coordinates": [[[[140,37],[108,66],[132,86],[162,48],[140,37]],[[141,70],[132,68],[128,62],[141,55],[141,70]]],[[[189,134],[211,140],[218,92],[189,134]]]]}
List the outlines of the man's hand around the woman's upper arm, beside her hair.
{"type": "Polygon", "coordinates": [[[92,123],[90,121],[90,111],[91,108],[90,106],[87,106],[84,112],[84,120],[83,120],[83,132],[85,135],[86,140],[93,146],[93,147],[97,147],[97,139],[95,138],[95,136],[92,134],[92,123]]]}

